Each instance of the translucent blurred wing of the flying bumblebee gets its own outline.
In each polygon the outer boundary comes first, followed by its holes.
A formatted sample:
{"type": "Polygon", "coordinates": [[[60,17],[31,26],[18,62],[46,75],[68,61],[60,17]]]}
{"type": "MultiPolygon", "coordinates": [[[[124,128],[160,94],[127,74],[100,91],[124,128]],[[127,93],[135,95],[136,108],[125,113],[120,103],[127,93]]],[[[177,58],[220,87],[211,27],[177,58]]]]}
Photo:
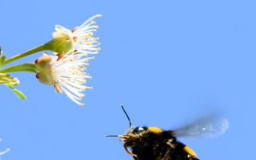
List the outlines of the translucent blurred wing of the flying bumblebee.
{"type": "Polygon", "coordinates": [[[210,116],[200,118],[193,123],[173,130],[176,137],[217,137],[229,128],[225,118],[210,116]]]}

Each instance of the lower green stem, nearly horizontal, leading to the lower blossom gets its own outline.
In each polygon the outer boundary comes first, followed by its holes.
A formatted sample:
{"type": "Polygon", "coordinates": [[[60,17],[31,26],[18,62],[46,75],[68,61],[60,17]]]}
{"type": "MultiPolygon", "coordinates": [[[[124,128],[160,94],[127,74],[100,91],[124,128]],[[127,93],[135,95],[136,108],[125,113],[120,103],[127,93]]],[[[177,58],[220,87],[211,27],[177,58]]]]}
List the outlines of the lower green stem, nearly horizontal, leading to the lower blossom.
{"type": "Polygon", "coordinates": [[[5,69],[0,69],[0,73],[9,73],[9,72],[33,72],[37,74],[37,67],[34,62],[24,63],[15,66],[9,66],[5,69]]]}

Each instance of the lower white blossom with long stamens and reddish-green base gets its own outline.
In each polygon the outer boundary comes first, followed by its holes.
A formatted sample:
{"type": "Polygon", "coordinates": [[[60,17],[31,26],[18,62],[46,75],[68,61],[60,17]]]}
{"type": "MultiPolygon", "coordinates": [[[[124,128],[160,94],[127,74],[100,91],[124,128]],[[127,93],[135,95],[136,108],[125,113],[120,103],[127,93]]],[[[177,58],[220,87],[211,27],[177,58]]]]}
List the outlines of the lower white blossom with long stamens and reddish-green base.
{"type": "Polygon", "coordinates": [[[85,70],[88,66],[88,59],[84,54],[74,53],[70,50],[68,53],[60,53],[58,56],[45,55],[36,60],[38,69],[37,78],[46,85],[54,85],[58,93],[66,93],[76,104],[84,106],[81,101],[85,94],[85,89],[92,88],[85,86],[86,78],[91,78],[85,70]]]}

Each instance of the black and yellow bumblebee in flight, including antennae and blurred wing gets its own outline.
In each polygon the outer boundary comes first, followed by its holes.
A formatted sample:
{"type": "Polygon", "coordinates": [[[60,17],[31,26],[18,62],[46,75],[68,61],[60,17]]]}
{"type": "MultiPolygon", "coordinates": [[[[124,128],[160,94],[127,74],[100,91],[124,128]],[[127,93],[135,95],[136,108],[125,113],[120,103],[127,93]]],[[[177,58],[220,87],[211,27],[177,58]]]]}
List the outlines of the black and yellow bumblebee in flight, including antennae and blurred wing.
{"type": "MultiPolygon", "coordinates": [[[[121,105],[124,114],[123,105],[121,105]]],[[[124,135],[114,135],[124,142],[126,152],[135,160],[199,160],[197,154],[177,140],[178,137],[216,137],[224,133],[229,123],[219,117],[203,117],[177,130],[162,130],[152,126],[131,126],[124,135]],[[128,149],[130,147],[132,152],[128,149]]],[[[107,135],[105,137],[110,137],[107,135]]],[[[113,137],[113,136],[112,136],[113,137]]]]}

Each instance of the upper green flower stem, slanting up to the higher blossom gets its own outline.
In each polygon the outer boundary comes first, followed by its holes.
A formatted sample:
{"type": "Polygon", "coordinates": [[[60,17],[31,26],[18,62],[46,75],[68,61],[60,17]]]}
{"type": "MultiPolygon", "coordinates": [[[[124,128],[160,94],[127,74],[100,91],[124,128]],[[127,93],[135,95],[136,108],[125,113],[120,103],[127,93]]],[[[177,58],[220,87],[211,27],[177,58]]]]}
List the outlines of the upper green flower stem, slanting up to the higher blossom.
{"type": "Polygon", "coordinates": [[[21,53],[21,54],[12,56],[9,59],[6,59],[4,65],[6,65],[6,64],[8,64],[10,62],[13,62],[13,61],[15,61],[17,59],[21,59],[24,56],[29,56],[30,54],[37,53],[37,52],[40,52],[40,51],[43,51],[43,50],[46,50],[45,44],[42,44],[40,46],[36,46],[33,49],[31,49],[31,50],[27,50],[24,53],[21,53]]]}

